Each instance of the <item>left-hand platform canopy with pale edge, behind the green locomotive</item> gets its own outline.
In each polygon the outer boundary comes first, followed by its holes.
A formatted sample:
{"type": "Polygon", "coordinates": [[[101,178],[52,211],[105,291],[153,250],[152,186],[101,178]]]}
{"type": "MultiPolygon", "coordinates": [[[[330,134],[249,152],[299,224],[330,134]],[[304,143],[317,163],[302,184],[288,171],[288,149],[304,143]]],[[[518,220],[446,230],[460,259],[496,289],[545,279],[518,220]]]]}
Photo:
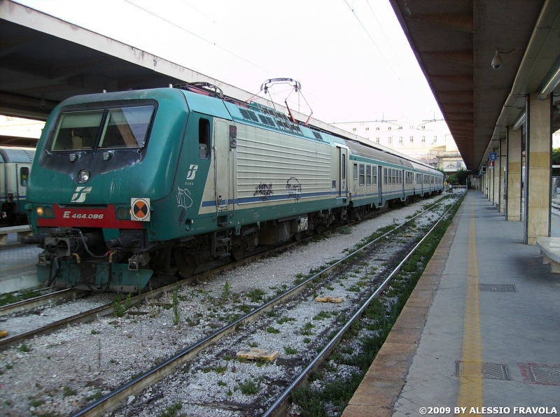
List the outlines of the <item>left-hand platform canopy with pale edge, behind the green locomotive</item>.
{"type": "MultiPolygon", "coordinates": [[[[256,101],[288,113],[253,92],[241,90],[192,69],[97,34],[57,17],[0,0],[0,114],[46,120],[57,104],[78,94],[144,88],[170,84],[211,83],[235,99],[256,101]]],[[[292,110],[294,118],[307,122],[308,115],[292,110]]],[[[356,134],[311,118],[310,125],[339,137],[367,142],[400,155],[356,134]]],[[[0,136],[0,145],[32,145],[29,139],[0,136]],[[3,142],[4,141],[4,142],[3,142]]]]}

